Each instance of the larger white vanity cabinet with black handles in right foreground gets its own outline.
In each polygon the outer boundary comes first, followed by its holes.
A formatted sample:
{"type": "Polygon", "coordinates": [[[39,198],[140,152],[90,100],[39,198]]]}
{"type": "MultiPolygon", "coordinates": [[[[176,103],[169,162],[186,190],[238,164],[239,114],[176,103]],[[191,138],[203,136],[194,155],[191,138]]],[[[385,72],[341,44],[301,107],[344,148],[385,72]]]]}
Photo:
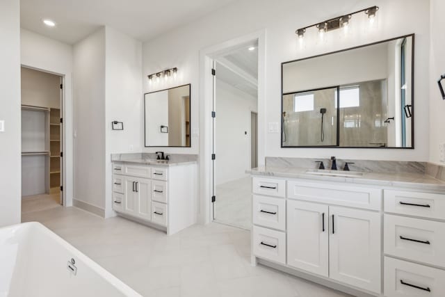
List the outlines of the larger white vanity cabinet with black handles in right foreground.
{"type": "Polygon", "coordinates": [[[364,296],[445,296],[444,194],[253,176],[252,200],[254,264],[364,296]]]}

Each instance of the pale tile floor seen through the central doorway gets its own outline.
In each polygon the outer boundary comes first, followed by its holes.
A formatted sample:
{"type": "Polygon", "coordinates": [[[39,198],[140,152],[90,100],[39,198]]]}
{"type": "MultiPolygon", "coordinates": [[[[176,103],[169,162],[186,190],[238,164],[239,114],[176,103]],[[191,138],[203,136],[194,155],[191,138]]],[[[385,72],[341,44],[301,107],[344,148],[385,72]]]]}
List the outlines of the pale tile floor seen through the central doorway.
{"type": "Polygon", "coordinates": [[[252,228],[250,176],[216,186],[215,220],[245,230],[252,228]]]}

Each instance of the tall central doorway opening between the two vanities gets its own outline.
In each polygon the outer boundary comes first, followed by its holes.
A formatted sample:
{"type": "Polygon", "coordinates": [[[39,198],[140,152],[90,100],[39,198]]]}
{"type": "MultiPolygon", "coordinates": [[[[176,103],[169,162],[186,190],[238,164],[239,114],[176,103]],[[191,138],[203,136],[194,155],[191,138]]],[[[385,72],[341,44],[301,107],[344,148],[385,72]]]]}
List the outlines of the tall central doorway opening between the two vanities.
{"type": "Polygon", "coordinates": [[[258,40],[213,57],[213,220],[250,230],[258,164],[258,40]]]}

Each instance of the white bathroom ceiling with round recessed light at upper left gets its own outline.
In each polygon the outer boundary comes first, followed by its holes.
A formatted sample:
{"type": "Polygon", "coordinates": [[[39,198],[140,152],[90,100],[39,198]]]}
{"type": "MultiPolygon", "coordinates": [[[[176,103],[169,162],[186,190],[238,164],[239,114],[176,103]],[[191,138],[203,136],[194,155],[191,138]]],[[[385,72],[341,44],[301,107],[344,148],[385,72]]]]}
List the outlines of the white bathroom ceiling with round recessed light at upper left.
{"type": "Polygon", "coordinates": [[[238,0],[21,0],[21,26],[74,44],[100,26],[146,41],[238,0]],[[42,23],[48,18],[57,26],[42,23]]]}

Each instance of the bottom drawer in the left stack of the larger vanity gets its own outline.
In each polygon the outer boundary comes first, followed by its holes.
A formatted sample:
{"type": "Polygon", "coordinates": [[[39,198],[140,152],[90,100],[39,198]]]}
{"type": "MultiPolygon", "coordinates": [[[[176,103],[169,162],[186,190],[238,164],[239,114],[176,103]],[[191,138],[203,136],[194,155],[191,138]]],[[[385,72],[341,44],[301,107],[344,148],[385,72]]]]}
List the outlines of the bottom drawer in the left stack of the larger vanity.
{"type": "Polygon", "coordinates": [[[255,256],[286,264],[286,233],[254,226],[252,245],[255,256]]]}

